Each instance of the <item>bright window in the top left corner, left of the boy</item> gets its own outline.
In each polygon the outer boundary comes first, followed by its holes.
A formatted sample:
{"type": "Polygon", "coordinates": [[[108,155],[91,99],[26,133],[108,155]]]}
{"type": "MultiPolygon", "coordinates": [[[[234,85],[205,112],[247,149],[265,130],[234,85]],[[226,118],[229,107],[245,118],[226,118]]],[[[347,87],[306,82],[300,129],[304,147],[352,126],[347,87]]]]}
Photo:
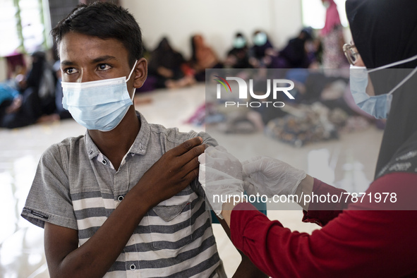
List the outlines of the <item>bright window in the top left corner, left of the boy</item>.
{"type": "Polygon", "coordinates": [[[51,45],[47,0],[0,0],[0,6],[0,56],[51,45]]]}

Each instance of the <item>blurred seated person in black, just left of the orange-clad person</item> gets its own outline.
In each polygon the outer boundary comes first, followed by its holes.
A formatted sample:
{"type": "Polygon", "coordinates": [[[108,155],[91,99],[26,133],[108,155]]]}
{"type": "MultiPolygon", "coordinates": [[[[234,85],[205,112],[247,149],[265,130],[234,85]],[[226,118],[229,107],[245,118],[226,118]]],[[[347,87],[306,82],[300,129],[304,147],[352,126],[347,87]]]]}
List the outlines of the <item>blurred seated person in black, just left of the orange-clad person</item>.
{"type": "Polygon", "coordinates": [[[186,60],[172,49],[167,37],[159,42],[150,57],[149,73],[157,78],[155,87],[184,87],[195,82],[192,74],[184,74],[186,60]]]}

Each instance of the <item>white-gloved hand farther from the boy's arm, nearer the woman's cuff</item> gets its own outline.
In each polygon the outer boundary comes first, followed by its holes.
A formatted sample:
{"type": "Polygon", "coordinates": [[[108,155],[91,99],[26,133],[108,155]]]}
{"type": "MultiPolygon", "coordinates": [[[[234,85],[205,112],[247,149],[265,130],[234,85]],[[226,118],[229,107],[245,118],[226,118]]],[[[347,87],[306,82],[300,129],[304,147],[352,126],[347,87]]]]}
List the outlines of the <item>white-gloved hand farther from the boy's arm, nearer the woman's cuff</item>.
{"type": "Polygon", "coordinates": [[[295,194],[306,172],[271,157],[253,157],[242,163],[244,188],[250,195],[295,194]]]}

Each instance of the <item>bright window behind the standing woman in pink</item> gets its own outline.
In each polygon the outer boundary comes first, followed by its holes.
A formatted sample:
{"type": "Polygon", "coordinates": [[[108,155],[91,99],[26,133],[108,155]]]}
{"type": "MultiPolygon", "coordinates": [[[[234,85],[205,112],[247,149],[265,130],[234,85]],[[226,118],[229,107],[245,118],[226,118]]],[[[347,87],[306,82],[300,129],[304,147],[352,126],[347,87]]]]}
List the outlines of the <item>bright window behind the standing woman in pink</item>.
{"type": "MultiPolygon", "coordinates": [[[[346,0],[334,0],[337,4],[337,11],[339,11],[342,25],[347,27],[349,25],[346,18],[345,9],[346,0]]],[[[325,27],[326,8],[322,4],[322,0],[302,0],[303,5],[303,25],[311,26],[314,29],[322,29],[325,27]]]]}

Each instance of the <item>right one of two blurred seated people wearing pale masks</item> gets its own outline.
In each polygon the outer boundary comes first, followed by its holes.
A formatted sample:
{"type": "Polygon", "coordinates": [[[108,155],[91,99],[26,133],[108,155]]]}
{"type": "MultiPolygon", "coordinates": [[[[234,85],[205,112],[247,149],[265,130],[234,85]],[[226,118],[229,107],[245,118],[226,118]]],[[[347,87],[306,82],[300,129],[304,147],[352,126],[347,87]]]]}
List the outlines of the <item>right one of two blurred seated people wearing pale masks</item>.
{"type": "Polygon", "coordinates": [[[269,68],[272,57],[277,56],[277,52],[272,46],[265,32],[260,30],[253,33],[253,47],[249,52],[249,63],[253,68],[269,68]]]}

